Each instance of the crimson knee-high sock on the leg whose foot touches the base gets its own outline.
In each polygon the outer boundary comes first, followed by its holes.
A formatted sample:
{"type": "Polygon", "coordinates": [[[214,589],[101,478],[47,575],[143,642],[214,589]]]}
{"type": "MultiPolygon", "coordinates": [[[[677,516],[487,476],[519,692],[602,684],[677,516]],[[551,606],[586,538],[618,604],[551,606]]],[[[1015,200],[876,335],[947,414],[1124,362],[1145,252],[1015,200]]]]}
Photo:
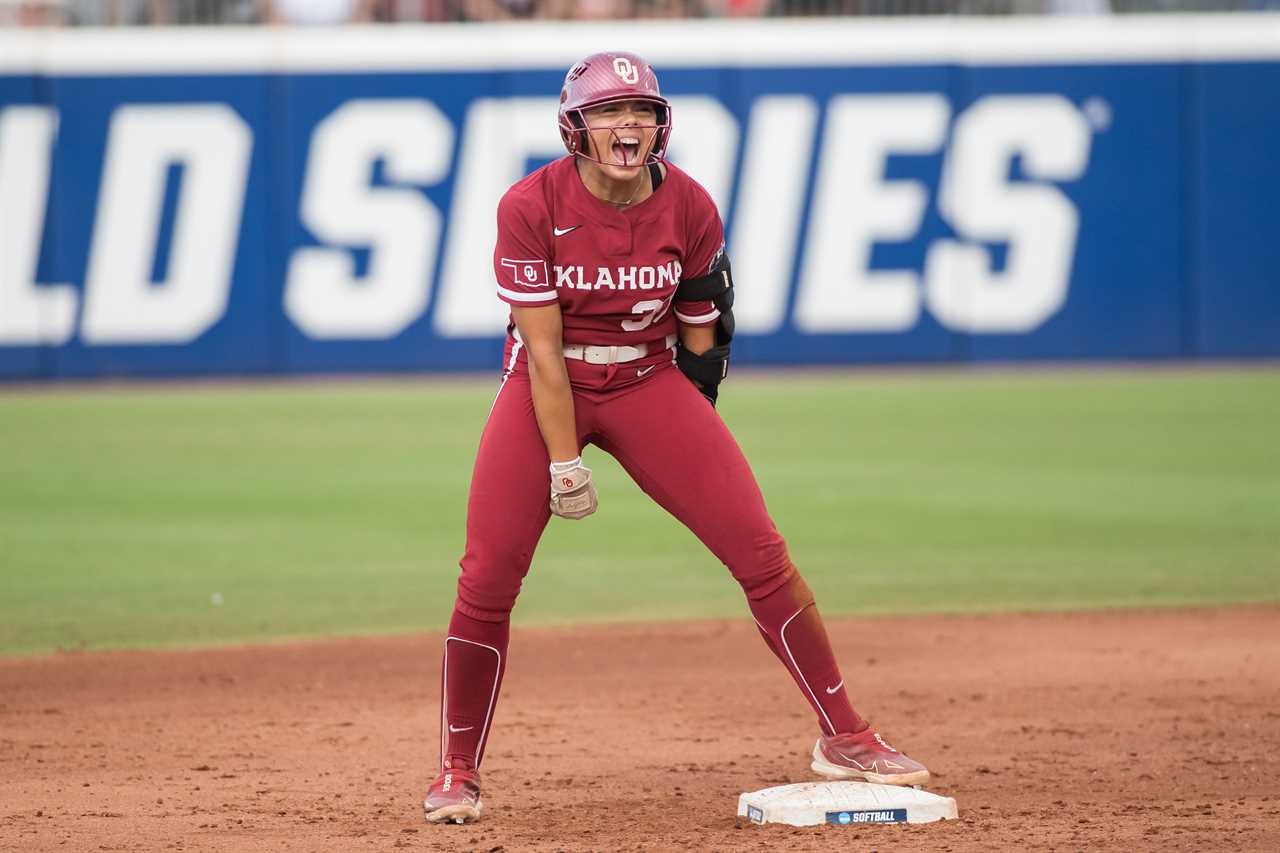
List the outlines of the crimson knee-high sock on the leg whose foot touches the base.
{"type": "Polygon", "coordinates": [[[863,731],[868,724],[849,702],[845,679],[831,651],[827,629],[818,615],[809,584],[795,573],[781,587],[748,603],[760,635],[782,661],[828,734],[863,731]]]}

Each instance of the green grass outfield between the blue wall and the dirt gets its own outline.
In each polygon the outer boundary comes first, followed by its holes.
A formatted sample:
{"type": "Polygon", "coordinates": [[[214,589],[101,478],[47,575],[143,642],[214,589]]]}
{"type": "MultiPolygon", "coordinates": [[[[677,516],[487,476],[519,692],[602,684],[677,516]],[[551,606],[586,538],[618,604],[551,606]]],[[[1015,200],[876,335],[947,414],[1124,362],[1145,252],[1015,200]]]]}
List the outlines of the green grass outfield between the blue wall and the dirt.
{"type": "MultiPolygon", "coordinates": [[[[494,389],[0,389],[0,653],[443,626],[494,389]]],[[[828,615],[1280,601],[1274,368],[740,373],[721,411],[828,615]]],[[[517,624],[745,617],[586,457],[517,624]]]]}

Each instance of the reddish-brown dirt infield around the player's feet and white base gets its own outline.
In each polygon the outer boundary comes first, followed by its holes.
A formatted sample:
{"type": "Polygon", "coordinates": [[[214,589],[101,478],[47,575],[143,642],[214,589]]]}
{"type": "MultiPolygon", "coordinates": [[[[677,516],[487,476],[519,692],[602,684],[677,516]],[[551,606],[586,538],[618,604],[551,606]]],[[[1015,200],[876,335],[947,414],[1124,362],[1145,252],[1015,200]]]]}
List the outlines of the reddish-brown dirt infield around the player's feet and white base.
{"type": "Polygon", "coordinates": [[[749,621],[699,622],[517,630],[471,826],[421,820],[439,635],[0,660],[0,849],[1280,849],[1280,608],[831,630],[961,820],[737,821],[815,729],[749,621]]]}

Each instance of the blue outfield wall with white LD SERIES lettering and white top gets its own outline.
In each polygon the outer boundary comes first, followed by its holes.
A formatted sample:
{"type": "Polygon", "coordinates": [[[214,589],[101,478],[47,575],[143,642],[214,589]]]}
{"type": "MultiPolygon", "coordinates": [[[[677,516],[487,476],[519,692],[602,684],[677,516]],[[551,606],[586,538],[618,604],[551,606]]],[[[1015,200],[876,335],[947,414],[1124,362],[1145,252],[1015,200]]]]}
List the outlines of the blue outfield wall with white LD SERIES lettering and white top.
{"type": "Polygon", "coordinates": [[[1280,356],[1280,17],[0,31],[0,378],[498,366],[503,190],[626,47],[739,364],[1280,356]]]}

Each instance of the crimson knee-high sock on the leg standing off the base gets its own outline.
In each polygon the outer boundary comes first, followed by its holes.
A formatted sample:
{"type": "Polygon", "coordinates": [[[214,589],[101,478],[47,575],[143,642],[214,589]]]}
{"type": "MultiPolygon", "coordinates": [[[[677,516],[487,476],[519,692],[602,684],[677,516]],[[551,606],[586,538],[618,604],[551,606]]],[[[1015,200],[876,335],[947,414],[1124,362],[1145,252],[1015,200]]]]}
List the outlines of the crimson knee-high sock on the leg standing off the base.
{"type": "Polygon", "coordinates": [[[440,665],[442,768],[480,767],[507,669],[509,634],[509,616],[483,621],[454,607],[440,665]]]}

